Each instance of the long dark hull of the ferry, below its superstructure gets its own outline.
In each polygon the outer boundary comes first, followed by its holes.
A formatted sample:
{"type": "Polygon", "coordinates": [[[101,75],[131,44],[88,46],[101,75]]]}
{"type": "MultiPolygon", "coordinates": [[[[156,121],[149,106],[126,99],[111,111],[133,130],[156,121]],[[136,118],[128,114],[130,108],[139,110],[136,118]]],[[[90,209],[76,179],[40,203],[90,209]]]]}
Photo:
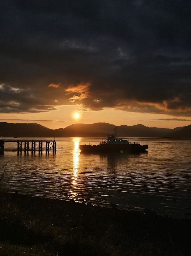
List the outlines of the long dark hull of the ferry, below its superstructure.
{"type": "Polygon", "coordinates": [[[127,145],[79,145],[79,149],[87,153],[139,153],[148,149],[148,145],[127,144],[127,145]]]}

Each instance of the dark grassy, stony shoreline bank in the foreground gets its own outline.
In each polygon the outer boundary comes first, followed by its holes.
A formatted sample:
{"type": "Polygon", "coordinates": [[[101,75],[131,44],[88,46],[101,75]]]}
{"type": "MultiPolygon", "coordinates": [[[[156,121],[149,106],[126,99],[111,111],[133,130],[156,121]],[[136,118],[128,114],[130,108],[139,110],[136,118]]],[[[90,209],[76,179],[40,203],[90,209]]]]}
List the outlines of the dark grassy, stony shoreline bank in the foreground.
{"type": "Polygon", "coordinates": [[[0,255],[189,255],[190,220],[0,193],[0,255]]]}

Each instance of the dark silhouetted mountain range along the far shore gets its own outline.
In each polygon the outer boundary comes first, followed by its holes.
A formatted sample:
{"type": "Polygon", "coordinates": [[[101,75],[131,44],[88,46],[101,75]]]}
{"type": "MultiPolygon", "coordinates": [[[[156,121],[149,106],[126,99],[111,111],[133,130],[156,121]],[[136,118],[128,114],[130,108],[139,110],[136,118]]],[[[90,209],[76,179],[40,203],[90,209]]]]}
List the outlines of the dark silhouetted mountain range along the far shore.
{"type": "MultiPolygon", "coordinates": [[[[106,137],[113,133],[115,125],[108,123],[71,124],[66,128],[49,129],[37,123],[5,123],[0,122],[2,137],[106,137]]],[[[170,137],[191,138],[191,124],[185,127],[157,128],[142,124],[120,125],[117,127],[117,137],[170,137]]]]}

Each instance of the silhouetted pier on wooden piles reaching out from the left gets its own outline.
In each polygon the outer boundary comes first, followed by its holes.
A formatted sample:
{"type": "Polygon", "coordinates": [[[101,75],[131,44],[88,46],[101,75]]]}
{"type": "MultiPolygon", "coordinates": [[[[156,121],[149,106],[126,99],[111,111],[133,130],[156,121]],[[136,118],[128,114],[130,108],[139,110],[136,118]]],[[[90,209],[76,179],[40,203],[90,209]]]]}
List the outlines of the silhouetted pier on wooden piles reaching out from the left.
{"type": "Polygon", "coordinates": [[[46,154],[50,151],[54,153],[56,153],[56,141],[51,140],[51,141],[45,141],[45,140],[0,140],[0,151],[4,150],[4,145],[5,142],[15,142],[17,143],[17,153],[19,154],[22,153],[22,151],[24,151],[24,153],[26,154],[26,152],[28,153],[29,151],[31,151],[31,153],[35,154],[36,151],[39,152],[39,154],[43,153],[43,151],[46,152],[46,154]],[[45,143],[45,147],[43,148],[43,143],[45,143]]]}

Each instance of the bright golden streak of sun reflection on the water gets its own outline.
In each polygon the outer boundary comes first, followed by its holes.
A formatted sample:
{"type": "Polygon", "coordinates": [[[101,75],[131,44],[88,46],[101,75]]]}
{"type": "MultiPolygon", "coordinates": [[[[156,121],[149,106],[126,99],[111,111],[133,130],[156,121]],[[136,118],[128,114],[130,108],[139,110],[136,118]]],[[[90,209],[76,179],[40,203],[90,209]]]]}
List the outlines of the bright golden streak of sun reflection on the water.
{"type": "MultiPolygon", "coordinates": [[[[73,177],[72,177],[72,185],[73,190],[78,189],[77,179],[78,179],[78,169],[79,169],[79,142],[80,138],[73,138],[74,142],[74,150],[73,150],[73,177]]],[[[75,199],[78,194],[75,191],[71,191],[71,198],[75,199]]],[[[77,198],[76,198],[77,199],[77,198]]]]}

